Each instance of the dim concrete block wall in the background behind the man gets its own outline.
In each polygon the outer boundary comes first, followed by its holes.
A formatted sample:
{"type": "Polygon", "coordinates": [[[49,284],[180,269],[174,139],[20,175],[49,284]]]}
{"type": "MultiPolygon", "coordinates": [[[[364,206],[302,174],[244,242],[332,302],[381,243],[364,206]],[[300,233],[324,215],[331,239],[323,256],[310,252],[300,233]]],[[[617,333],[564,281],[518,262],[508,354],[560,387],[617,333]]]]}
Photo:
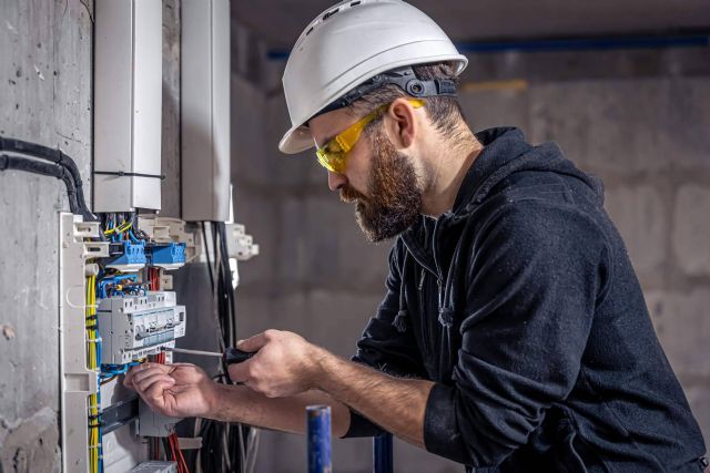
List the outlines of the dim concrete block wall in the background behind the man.
{"type": "MultiPolygon", "coordinates": [[[[710,440],[710,72],[698,68],[708,54],[481,55],[471,59],[462,103],[473,128],[517,125],[604,178],[659,338],[710,440]]],[[[364,241],[312,154],[278,153],[288,119],[277,89],[260,93],[235,76],[232,96],[235,218],[261,245],[241,266],[242,335],[293,330],[348,357],[384,295],[389,245],[364,241]]],[[[262,436],[257,471],[303,470],[304,439],[262,436]]],[[[369,445],[335,441],[335,470],[367,471],[369,445]]],[[[395,455],[397,471],[460,471],[403,442],[395,455]]]]}

